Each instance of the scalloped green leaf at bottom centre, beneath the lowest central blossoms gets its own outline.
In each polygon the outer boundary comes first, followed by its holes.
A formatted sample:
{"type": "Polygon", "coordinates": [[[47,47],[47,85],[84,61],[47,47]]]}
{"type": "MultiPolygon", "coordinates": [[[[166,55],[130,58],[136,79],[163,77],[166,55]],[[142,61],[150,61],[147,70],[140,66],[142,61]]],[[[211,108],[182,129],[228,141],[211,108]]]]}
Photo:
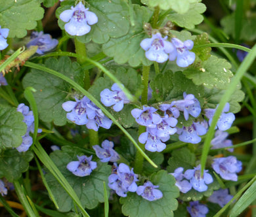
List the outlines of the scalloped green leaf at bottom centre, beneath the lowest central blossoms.
{"type": "Polygon", "coordinates": [[[175,186],[175,178],[167,174],[167,171],[154,173],[150,181],[159,186],[158,190],[163,193],[163,197],[156,201],[147,201],[137,193],[128,193],[127,197],[121,197],[123,204],[122,212],[130,217],[173,217],[173,210],[178,207],[176,197],[179,196],[179,189],[175,186]]]}

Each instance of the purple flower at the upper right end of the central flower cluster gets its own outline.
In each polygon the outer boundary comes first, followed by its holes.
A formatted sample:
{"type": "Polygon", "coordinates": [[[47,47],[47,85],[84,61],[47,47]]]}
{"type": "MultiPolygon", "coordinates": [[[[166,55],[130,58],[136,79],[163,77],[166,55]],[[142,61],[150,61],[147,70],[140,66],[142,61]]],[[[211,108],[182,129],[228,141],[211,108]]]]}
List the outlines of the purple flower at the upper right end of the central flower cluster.
{"type": "Polygon", "coordinates": [[[194,118],[197,118],[201,113],[201,107],[198,99],[194,97],[193,94],[183,93],[184,99],[173,101],[172,105],[174,105],[179,110],[184,112],[185,120],[188,120],[188,114],[192,115],[194,118]]]}

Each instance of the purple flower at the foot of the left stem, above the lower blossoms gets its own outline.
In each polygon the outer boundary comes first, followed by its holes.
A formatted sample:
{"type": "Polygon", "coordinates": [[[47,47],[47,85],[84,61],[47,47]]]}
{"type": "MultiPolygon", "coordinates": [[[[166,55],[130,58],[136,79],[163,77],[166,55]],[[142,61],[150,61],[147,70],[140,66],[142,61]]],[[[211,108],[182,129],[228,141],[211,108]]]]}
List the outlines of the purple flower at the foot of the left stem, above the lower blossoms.
{"type": "Polygon", "coordinates": [[[93,146],[93,149],[96,152],[96,156],[100,158],[100,161],[102,162],[116,162],[120,159],[117,152],[113,149],[114,143],[110,142],[108,140],[105,140],[101,144],[102,148],[98,146],[97,144],[93,146]]]}

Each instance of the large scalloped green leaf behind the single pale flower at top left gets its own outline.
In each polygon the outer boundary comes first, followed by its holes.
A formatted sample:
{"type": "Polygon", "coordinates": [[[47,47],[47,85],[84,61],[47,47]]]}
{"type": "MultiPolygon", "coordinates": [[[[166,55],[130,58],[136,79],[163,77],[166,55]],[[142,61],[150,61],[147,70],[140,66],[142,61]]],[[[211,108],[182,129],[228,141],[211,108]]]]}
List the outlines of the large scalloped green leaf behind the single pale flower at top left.
{"type": "MultiPolygon", "coordinates": [[[[56,16],[59,18],[60,13],[64,10],[70,10],[72,3],[64,3],[56,10],[56,16]],[[68,4],[68,5],[67,5],[68,4]]],[[[93,40],[98,44],[107,42],[110,37],[122,37],[129,31],[129,7],[122,0],[89,0],[86,7],[89,7],[91,12],[94,12],[98,17],[98,22],[91,25],[91,31],[83,36],[77,37],[78,41],[89,42],[93,40]]],[[[64,29],[64,23],[58,19],[58,25],[64,29]]]]}

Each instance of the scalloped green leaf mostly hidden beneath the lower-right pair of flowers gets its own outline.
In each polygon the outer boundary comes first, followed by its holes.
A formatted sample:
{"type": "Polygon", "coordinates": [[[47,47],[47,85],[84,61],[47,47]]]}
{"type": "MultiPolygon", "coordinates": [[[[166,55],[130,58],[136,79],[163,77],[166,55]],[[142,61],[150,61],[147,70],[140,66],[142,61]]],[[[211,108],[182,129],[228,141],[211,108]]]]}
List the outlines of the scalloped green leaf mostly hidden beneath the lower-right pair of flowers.
{"type": "Polygon", "coordinates": [[[208,173],[213,177],[213,182],[211,184],[207,184],[208,189],[205,192],[198,192],[192,188],[192,190],[187,193],[181,193],[179,199],[182,199],[182,201],[199,201],[203,198],[203,196],[209,197],[213,194],[214,190],[218,190],[220,188],[219,182],[216,180],[213,173],[208,173]]]}

